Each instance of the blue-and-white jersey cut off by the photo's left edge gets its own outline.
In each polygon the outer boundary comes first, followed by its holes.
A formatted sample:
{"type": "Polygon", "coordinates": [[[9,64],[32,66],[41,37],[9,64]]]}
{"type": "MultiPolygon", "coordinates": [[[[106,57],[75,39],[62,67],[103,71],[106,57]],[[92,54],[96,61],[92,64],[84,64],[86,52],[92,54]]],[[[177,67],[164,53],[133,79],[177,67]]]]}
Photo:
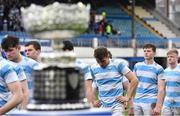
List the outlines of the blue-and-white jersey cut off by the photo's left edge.
{"type": "Polygon", "coordinates": [[[0,58],[0,107],[11,98],[7,84],[18,80],[18,76],[9,62],[0,58]]]}

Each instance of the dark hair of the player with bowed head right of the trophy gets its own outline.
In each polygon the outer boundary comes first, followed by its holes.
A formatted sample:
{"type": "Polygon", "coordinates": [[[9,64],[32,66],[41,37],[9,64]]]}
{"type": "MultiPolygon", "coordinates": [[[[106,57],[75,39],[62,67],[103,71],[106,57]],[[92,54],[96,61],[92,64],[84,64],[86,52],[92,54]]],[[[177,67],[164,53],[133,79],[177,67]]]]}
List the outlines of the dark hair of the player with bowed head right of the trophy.
{"type": "Polygon", "coordinates": [[[102,60],[104,57],[109,57],[109,51],[106,47],[98,47],[94,50],[94,57],[102,60]]]}

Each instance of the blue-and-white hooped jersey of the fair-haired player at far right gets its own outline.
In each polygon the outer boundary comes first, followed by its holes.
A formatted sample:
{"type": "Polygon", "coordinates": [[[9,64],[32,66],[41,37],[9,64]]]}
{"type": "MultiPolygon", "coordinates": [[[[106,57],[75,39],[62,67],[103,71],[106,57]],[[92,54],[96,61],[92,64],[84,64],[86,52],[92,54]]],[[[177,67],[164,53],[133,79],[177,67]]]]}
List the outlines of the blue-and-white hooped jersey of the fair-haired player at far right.
{"type": "Polygon", "coordinates": [[[166,84],[164,106],[180,108],[180,66],[175,69],[166,68],[163,78],[166,84]]]}

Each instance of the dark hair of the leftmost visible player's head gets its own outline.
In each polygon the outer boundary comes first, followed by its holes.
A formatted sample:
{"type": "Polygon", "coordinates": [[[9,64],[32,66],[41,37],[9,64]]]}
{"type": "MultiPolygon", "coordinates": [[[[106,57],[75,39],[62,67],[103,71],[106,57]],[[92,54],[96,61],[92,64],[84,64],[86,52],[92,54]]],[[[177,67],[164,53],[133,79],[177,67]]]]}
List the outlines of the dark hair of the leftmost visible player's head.
{"type": "Polygon", "coordinates": [[[19,38],[9,35],[6,35],[1,42],[1,47],[5,51],[11,47],[16,47],[17,45],[19,45],[19,38]]]}

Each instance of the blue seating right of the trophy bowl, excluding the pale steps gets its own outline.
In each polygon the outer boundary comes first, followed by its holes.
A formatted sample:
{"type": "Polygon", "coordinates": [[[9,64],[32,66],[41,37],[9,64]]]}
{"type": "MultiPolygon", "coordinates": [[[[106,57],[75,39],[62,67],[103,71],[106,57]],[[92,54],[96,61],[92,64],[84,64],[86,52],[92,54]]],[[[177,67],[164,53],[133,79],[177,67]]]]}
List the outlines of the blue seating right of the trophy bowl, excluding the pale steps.
{"type": "MultiPolygon", "coordinates": [[[[106,12],[106,20],[112,23],[116,30],[120,30],[120,35],[113,35],[112,45],[108,45],[108,38],[98,34],[84,34],[74,38],[72,41],[75,46],[92,46],[93,38],[98,38],[99,46],[108,47],[131,47],[131,16],[124,12],[120,7],[108,6],[97,9],[97,13],[106,12]]],[[[147,19],[146,19],[147,20],[147,19]]],[[[145,43],[153,43],[160,48],[166,48],[168,40],[164,39],[149,29],[144,27],[138,21],[135,22],[137,47],[142,47],[145,43]]]]}

